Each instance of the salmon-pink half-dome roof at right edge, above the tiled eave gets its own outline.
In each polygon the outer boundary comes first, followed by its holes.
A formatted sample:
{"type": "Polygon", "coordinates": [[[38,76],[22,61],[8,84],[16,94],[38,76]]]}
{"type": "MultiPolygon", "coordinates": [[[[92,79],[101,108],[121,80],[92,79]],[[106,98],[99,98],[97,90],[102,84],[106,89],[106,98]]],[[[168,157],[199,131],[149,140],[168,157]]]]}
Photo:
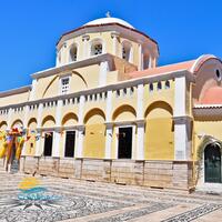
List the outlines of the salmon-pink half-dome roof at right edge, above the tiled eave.
{"type": "Polygon", "coordinates": [[[222,88],[213,87],[206,90],[203,99],[201,100],[202,104],[222,104],[222,88]]]}

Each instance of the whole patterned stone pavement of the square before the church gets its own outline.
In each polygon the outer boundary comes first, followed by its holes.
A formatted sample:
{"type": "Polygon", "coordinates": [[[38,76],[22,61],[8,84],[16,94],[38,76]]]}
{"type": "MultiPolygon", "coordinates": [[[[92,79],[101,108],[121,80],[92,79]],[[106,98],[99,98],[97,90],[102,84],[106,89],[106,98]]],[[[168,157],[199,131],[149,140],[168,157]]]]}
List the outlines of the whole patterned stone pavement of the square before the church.
{"type": "Polygon", "coordinates": [[[0,171],[0,222],[222,221],[221,195],[36,175],[42,190],[30,198],[24,178],[0,171]]]}

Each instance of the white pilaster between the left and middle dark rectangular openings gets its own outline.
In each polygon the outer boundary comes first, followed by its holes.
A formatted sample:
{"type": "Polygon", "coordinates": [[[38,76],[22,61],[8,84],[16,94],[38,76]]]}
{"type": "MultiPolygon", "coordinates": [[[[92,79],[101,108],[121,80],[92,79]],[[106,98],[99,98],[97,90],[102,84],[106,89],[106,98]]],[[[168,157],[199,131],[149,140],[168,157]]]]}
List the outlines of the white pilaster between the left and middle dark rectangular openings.
{"type": "MultiPolygon", "coordinates": [[[[61,112],[62,112],[62,100],[58,100],[57,104],[57,112],[56,112],[56,127],[60,128],[61,127],[61,112]]],[[[54,131],[54,137],[53,137],[53,147],[52,147],[52,157],[53,158],[59,158],[60,157],[60,142],[61,142],[61,133],[57,129],[54,131]]]]}

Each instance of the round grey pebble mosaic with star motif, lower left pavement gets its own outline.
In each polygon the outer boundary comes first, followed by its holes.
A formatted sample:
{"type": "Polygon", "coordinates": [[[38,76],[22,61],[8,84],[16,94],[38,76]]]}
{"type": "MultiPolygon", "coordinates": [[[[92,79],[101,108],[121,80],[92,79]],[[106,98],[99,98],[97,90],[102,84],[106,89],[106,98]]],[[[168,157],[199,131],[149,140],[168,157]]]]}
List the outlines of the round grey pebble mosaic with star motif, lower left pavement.
{"type": "Polygon", "coordinates": [[[19,199],[20,193],[2,194],[0,221],[49,222],[80,218],[124,206],[124,204],[87,196],[75,196],[46,191],[42,200],[19,199]],[[48,198],[46,198],[48,196],[48,198]]]}

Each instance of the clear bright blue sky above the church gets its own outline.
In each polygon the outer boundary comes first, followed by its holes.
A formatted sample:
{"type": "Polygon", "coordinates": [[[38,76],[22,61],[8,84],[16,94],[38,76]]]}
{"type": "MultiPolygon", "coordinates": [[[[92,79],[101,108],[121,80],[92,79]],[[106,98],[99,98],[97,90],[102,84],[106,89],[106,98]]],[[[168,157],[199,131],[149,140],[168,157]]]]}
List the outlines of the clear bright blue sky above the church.
{"type": "Polygon", "coordinates": [[[221,0],[1,0],[0,9],[0,91],[30,84],[54,65],[62,33],[107,11],[159,42],[159,64],[222,58],[221,0]]]}

